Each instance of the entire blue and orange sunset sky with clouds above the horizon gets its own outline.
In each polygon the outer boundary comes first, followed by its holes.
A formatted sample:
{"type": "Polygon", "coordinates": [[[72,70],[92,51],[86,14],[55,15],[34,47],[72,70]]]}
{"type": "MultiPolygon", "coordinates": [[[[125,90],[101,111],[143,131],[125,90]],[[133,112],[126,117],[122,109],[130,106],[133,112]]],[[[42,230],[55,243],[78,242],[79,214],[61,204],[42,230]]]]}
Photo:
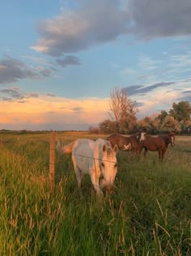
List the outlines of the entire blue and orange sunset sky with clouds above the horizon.
{"type": "Polygon", "coordinates": [[[87,130],[191,102],[190,0],[0,0],[0,129],[87,130]]]}

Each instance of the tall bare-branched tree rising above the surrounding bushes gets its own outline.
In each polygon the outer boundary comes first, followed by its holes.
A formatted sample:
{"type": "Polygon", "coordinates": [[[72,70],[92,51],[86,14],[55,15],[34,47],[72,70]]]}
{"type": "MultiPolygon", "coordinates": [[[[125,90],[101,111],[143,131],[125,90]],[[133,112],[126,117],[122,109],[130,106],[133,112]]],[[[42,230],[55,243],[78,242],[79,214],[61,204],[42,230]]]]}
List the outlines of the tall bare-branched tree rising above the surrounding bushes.
{"type": "Polygon", "coordinates": [[[110,93],[109,115],[117,123],[117,132],[125,132],[130,130],[136,124],[135,114],[137,112],[135,104],[129,99],[125,90],[115,88],[110,93]]]}

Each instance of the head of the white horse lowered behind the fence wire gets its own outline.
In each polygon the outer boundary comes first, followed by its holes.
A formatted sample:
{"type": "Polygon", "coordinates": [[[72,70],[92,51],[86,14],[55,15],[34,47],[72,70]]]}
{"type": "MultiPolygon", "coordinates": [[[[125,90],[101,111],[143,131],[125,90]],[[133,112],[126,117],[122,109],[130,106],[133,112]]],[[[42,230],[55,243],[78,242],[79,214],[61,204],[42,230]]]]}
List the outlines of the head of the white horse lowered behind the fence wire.
{"type": "Polygon", "coordinates": [[[115,177],[117,175],[117,145],[111,146],[103,145],[103,158],[101,161],[101,172],[104,178],[100,180],[101,189],[111,192],[115,177]]]}

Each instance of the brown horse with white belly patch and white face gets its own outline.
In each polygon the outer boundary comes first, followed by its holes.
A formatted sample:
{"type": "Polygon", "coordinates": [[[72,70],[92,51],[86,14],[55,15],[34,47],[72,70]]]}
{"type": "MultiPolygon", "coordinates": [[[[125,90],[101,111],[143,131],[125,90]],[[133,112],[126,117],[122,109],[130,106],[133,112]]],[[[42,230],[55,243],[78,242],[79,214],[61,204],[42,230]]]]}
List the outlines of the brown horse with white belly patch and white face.
{"type": "Polygon", "coordinates": [[[121,134],[112,134],[107,140],[111,142],[112,146],[117,145],[119,150],[131,151],[131,156],[137,154],[139,157],[139,151],[142,147],[141,141],[146,138],[146,132],[141,132],[130,137],[123,136],[121,134]]]}

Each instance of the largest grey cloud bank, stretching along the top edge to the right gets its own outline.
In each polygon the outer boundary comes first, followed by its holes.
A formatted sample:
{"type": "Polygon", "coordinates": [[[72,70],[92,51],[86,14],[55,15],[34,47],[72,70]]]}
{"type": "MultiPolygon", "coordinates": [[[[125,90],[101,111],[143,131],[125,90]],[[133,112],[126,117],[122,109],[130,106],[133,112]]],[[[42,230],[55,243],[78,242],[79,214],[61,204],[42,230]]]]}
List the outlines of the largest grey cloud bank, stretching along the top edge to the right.
{"type": "Polygon", "coordinates": [[[52,56],[75,53],[121,35],[142,41],[190,36],[189,0],[76,0],[73,9],[41,20],[33,50],[52,56]]]}

